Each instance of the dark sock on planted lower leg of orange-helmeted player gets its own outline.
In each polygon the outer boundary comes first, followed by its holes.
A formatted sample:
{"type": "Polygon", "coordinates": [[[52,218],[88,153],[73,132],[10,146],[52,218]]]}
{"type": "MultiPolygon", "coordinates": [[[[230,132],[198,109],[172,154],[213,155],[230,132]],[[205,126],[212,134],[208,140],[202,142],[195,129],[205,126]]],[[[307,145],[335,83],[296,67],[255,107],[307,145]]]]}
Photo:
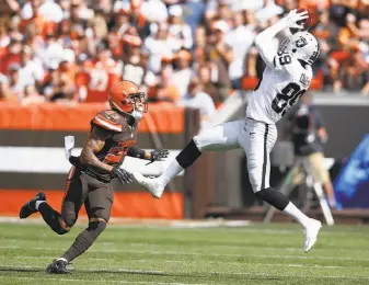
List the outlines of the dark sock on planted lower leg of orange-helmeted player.
{"type": "Polygon", "coordinates": [[[61,258],[68,262],[72,261],[84,251],[87,251],[92,243],[97,239],[99,235],[106,228],[105,221],[92,221],[89,227],[83,230],[74,240],[73,244],[62,254],[61,258]]]}

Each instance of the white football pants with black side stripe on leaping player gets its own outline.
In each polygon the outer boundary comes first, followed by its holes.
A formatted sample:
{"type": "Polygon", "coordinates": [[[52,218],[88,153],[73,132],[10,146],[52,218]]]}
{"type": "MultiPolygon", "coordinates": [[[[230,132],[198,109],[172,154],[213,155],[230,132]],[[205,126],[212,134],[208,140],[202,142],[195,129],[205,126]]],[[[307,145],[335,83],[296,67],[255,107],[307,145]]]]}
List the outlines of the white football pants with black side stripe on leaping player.
{"type": "Polygon", "coordinates": [[[269,187],[269,153],[276,140],[276,125],[247,117],[207,128],[194,137],[201,152],[243,148],[247,156],[249,178],[254,192],[269,187]]]}

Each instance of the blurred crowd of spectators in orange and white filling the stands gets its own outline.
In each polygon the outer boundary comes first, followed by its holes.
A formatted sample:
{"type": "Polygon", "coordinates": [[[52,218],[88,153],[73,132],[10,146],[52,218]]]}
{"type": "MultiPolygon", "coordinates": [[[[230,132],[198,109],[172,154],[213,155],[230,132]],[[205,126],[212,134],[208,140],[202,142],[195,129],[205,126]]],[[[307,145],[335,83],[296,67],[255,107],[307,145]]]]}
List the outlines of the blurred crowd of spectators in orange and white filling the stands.
{"type": "Polygon", "coordinates": [[[100,102],[124,78],[211,115],[255,87],[255,35],[301,7],[321,43],[311,88],[369,96],[369,0],[1,1],[2,101],[100,102]]]}

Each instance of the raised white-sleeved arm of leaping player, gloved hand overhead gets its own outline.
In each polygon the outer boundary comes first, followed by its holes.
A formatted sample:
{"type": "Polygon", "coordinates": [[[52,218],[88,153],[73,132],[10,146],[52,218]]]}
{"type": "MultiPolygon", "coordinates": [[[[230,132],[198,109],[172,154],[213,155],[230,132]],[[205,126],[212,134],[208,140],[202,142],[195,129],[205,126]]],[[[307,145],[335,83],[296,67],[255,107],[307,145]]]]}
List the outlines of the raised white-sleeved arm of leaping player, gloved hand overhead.
{"type": "Polygon", "coordinates": [[[287,16],[279,20],[276,24],[264,30],[255,37],[255,46],[262,56],[264,62],[272,69],[274,69],[274,57],[277,54],[277,50],[274,50],[270,47],[270,41],[274,38],[280,31],[287,27],[302,29],[302,25],[297,24],[298,21],[308,19],[308,11],[298,13],[297,10],[289,12],[287,16]]]}

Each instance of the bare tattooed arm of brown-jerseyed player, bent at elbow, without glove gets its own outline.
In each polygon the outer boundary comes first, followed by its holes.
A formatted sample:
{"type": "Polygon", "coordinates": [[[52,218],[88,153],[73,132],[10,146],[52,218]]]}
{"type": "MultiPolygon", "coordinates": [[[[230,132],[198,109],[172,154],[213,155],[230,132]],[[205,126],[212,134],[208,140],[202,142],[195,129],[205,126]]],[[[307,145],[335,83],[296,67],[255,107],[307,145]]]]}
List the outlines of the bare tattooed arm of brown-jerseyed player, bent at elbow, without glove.
{"type": "Polygon", "coordinates": [[[105,140],[111,136],[109,132],[94,126],[89,135],[88,142],[83,147],[80,162],[82,166],[97,170],[101,173],[111,173],[113,170],[112,166],[108,166],[97,159],[95,153],[97,153],[105,145],[105,140]]]}

